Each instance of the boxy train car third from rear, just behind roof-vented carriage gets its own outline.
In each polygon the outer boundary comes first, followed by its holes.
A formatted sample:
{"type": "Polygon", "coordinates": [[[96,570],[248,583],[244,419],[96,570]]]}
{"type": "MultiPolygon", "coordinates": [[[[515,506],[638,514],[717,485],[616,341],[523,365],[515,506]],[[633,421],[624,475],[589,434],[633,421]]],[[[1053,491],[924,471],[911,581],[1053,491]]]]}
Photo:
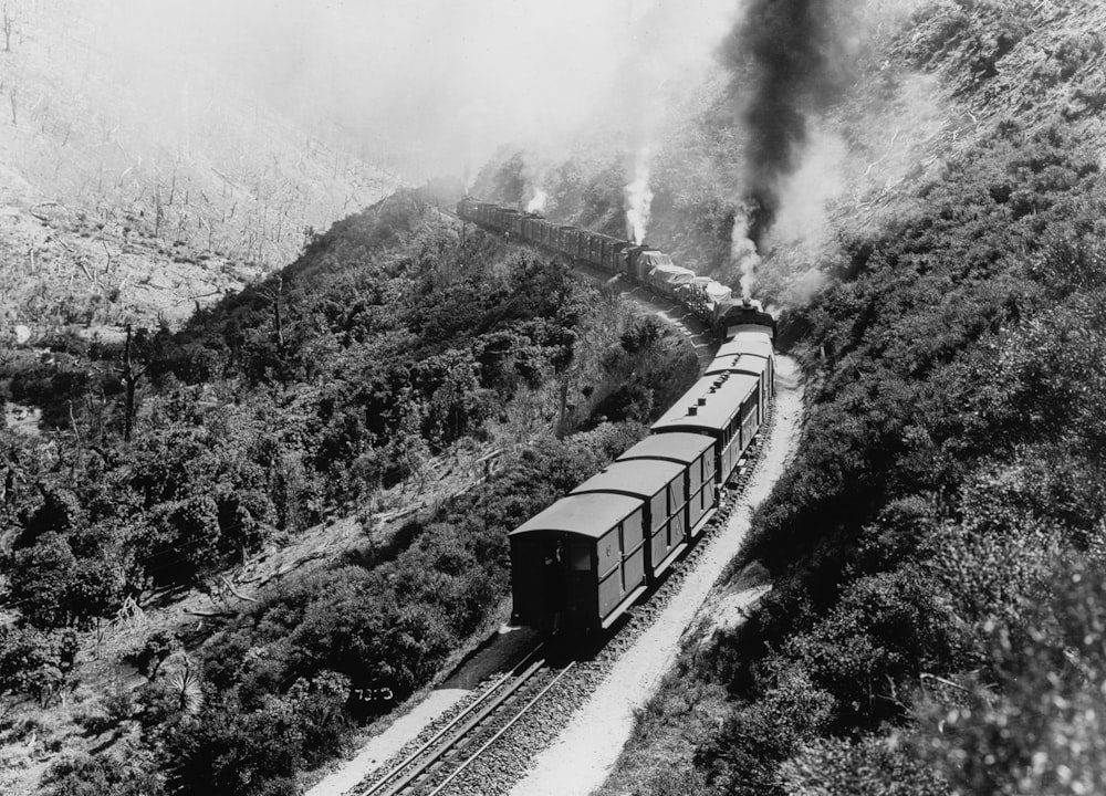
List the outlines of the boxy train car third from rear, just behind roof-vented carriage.
{"type": "Polygon", "coordinates": [[[684,471],[684,526],[688,540],[702,532],[718,509],[718,488],[714,484],[714,441],[698,433],[658,433],[627,450],[620,462],[667,461],[679,464],[684,471]]]}

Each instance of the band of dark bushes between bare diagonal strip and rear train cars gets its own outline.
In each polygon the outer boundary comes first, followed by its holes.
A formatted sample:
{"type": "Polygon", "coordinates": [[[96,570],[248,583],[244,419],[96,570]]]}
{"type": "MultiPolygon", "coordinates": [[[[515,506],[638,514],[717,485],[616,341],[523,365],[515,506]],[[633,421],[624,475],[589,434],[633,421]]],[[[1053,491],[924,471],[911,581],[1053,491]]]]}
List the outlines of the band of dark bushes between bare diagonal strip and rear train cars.
{"type": "MultiPolygon", "coordinates": [[[[508,531],[641,430],[607,425],[529,449],[394,558],[292,580],[228,626],[202,649],[204,679],[219,698],[167,736],[174,788],[268,793],[332,754],[351,718],[389,706],[358,701],[356,689],[403,699],[427,682],[504,595],[508,531]]],[[[158,706],[163,693],[149,692],[153,722],[179,715],[158,706]]]]}

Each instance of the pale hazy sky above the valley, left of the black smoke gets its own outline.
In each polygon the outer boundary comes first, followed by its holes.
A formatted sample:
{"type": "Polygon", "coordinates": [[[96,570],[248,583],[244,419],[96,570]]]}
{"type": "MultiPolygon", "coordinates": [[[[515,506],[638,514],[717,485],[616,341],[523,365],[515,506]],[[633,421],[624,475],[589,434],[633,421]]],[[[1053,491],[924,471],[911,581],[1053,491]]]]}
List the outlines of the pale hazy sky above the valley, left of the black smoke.
{"type": "Polygon", "coordinates": [[[563,146],[599,108],[657,116],[741,0],[101,0],[132,73],[174,59],[431,164],[563,146]],[[173,55],[170,55],[170,53],[173,55]]]}

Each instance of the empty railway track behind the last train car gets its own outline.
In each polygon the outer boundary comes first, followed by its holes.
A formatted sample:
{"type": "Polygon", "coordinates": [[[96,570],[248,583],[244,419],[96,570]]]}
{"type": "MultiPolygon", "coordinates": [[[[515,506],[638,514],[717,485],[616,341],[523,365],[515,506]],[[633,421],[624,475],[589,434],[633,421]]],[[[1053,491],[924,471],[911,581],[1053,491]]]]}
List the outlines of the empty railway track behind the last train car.
{"type": "Polygon", "coordinates": [[[575,666],[574,660],[554,662],[546,646],[539,645],[434,736],[351,796],[436,796],[492,748],[575,666]]]}

